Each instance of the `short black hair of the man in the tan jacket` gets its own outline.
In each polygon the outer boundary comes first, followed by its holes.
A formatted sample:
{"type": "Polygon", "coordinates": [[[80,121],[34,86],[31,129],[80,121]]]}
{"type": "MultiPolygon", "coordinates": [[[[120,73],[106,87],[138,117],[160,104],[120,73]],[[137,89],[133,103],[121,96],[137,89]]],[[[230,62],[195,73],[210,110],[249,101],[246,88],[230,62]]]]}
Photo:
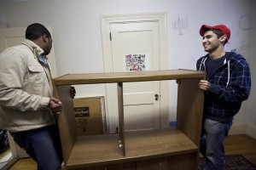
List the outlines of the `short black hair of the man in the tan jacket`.
{"type": "Polygon", "coordinates": [[[26,27],[26,39],[35,40],[44,35],[46,37],[51,37],[47,28],[39,23],[34,23],[26,27]]]}

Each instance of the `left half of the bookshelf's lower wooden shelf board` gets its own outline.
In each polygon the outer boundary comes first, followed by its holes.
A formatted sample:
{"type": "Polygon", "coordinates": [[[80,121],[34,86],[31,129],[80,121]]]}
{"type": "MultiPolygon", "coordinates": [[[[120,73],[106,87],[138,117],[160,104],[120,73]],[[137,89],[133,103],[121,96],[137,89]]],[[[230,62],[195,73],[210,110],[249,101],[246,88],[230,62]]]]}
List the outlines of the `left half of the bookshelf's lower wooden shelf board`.
{"type": "Polygon", "coordinates": [[[67,168],[99,166],[123,158],[119,134],[80,137],[74,144],[67,168]]]}

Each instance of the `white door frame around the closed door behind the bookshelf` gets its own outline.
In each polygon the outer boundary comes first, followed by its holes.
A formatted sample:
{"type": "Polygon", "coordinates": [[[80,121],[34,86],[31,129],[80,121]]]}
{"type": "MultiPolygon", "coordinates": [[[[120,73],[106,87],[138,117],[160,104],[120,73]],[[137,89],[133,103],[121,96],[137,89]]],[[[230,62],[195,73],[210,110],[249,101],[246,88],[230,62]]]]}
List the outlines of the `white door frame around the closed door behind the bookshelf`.
{"type": "MultiPolygon", "coordinates": [[[[113,54],[110,41],[110,25],[113,23],[132,23],[132,22],[158,22],[160,35],[160,70],[168,69],[167,57],[167,26],[166,13],[157,14],[115,14],[102,15],[102,56],[105,72],[113,72],[113,54]]],[[[119,123],[117,99],[113,98],[116,88],[113,84],[105,85],[106,91],[106,113],[108,117],[108,133],[117,133],[119,123]]],[[[169,126],[169,90],[168,82],[160,81],[160,128],[169,126]]]]}

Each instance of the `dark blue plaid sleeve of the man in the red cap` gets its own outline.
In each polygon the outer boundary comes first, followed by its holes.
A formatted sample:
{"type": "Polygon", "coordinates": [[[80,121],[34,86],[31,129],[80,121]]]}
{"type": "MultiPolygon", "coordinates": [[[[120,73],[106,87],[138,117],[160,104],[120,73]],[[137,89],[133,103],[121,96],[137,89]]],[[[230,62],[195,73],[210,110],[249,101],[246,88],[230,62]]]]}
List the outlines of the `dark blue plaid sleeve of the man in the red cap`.
{"type": "Polygon", "coordinates": [[[218,99],[231,103],[241,102],[248,99],[251,90],[251,73],[246,60],[239,60],[230,72],[230,84],[212,84],[209,92],[218,99]]]}

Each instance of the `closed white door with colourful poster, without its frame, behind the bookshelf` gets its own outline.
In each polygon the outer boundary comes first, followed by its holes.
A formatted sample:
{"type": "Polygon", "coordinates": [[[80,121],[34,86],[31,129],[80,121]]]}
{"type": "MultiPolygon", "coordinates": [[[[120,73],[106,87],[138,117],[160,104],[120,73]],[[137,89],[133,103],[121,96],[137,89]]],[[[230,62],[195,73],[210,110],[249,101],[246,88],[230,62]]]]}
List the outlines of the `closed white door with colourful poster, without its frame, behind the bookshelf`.
{"type": "MultiPolygon", "coordinates": [[[[114,72],[159,70],[158,22],[114,23],[110,30],[114,72]]],[[[125,131],[160,128],[159,98],[159,81],[125,82],[125,131]]]]}

